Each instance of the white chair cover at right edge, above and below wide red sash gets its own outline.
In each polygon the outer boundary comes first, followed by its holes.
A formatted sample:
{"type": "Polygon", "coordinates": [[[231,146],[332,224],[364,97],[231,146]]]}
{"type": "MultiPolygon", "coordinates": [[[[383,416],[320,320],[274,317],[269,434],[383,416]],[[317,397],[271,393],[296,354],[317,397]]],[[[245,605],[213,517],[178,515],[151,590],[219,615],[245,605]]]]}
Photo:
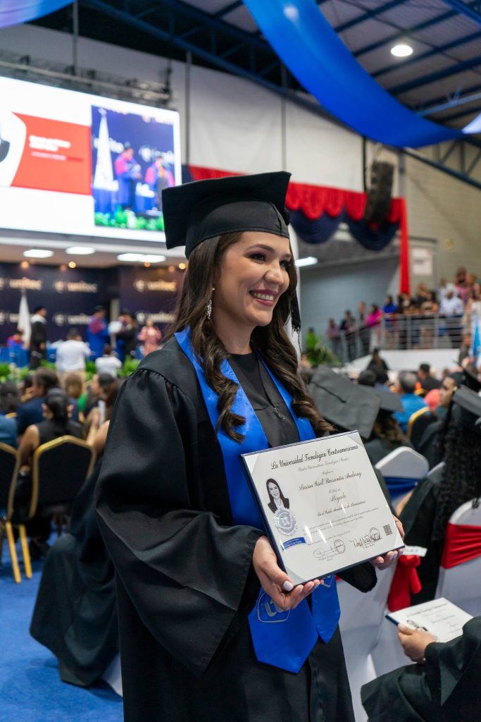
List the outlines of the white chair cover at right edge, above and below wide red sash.
{"type": "MultiPolygon", "coordinates": [[[[481,526],[481,503],[473,509],[472,501],[462,504],[449,520],[451,524],[481,526]]],[[[444,596],[464,612],[481,614],[481,557],[463,562],[451,569],[439,570],[436,597],[444,596]]]]}

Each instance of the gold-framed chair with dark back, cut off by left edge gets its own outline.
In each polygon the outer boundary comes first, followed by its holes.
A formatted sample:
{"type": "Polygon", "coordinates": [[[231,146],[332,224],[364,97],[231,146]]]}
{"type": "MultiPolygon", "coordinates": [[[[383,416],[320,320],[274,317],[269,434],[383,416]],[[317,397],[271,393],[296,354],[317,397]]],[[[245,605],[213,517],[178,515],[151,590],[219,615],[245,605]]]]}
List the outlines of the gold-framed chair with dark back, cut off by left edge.
{"type": "Polygon", "coordinates": [[[13,527],[17,528],[19,531],[25,576],[28,579],[32,578],[32,565],[30,564],[30,554],[28,551],[25,525],[12,522],[14,496],[15,489],[17,488],[19,468],[20,456],[17,449],[0,443],[0,507],[6,508],[6,514],[0,520],[0,562],[3,551],[4,536],[6,536],[9,544],[10,559],[12,560],[14,580],[17,583],[20,582],[21,578],[17,559],[17,549],[15,549],[13,527]]]}

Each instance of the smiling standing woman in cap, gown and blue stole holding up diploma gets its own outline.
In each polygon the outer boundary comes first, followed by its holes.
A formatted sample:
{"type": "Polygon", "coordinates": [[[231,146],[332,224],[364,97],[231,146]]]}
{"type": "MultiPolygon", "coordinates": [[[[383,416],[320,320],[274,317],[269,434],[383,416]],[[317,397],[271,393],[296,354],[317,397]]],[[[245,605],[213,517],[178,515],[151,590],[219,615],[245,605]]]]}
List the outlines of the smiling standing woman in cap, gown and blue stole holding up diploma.
{"type": "MultiPolygon", "coordinates": [[[[126,722],[353,721],[335,579],[293,588],[239,461],[328,428],[284,328],[288,178],[163,191],[167,246],[189,258],[175,334],[123,385],[97,484],[126,722]]],[[[345,578],[376,583],[369,562],[345,578]]]]}

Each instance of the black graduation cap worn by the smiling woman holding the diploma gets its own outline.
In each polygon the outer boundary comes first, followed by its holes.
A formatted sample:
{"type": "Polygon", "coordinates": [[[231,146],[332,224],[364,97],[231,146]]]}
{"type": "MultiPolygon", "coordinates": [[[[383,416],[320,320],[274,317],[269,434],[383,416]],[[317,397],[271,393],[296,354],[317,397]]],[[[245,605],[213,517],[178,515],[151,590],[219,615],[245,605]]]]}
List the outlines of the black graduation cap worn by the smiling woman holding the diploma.
{"type": "Polygon", "coordinates": [[[164,188],[167,248],[185,245],[187,258],[203,240],[258,230],[289,238],[286,192],[291,173],[231,175],[164,188]]]}

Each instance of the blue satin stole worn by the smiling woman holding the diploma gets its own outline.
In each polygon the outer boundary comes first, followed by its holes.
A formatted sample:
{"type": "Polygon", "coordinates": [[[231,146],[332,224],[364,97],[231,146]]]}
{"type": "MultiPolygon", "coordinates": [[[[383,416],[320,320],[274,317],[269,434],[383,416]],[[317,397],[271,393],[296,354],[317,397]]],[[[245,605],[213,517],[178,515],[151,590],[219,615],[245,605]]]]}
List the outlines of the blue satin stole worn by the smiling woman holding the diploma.
{"type": "MultiPolygon", "coordinates": [[[[203,399],[213,428],[217,426],[219,411],[217,402],[219,396],[208,386],[203,369],[195,358],[190,344],[190,331],[185,329],[175,334],[177,343],[193,364],[200,383],[203,399]]],[[[266,367],[267,368],[267,367],[266,367]]],[[[288,407],[296,422],[301,441],[315,438],[314,430],[307,419],[297,417],[292,409],[292,397],[270,373],[275,386],[288,407]]],[[[239,384],[229,362],[224,360],[221,372],[239,384]]],[[[260,425],[254,409],[247,399],[242,386],[239,384],[232,412],[245,418],[245,423],[238,427],[239,433],[244,435],[242,443],[238,443],[226,435],[224,429],[219,428],[217,438],[221,445],[224,467],[226,471],[227,487],[234,523],[254,526],[264,529],[264,523],[255,503],[247,479],[244,476],[239,454],[250,451],[260,451],[269,447],[267,437],[260,425]]],[[[306,599],[296,609],[284,612],[275,606],[270,596],[261,588],[254,609],[249,615],[252,643],[257,659],[266,664],[272,664],[291,672],[299,672],[301,666],[312,651],[318,636],[328,642],[334,634],[340,617],[339,601],[335,576],[325,578],[325,584],[320,584],[311,594],[312,609],[306,599]]]]}

